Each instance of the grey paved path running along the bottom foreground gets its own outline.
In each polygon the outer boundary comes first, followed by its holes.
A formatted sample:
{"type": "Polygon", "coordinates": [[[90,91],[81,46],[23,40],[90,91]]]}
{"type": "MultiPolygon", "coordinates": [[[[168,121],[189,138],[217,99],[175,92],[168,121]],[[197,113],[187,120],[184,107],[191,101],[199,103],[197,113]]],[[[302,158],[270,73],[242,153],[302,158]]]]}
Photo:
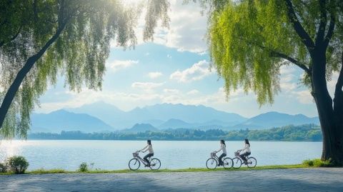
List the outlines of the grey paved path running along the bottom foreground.
{"type": "Polygon", "coordinates": [[[0,191],[343,191],[343,168],[0,176],[0,191]]]}

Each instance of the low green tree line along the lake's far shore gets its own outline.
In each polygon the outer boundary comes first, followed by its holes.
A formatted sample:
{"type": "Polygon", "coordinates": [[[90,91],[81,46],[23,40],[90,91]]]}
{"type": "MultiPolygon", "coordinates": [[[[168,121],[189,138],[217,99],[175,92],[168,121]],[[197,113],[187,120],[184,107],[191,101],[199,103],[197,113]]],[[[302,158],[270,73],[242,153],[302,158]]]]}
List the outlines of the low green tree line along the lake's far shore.
{"type": "Polygon", "coordinates": [[[283,126],[264,130],[241,129],[223,131],[222,129],[177,128],[163,131],[128,133],[116,131],[109,133],[83,133],[81,131],[61,131],[61,133],[30,133],[29,139],[71,139],[71,140],[219,140],[241,141],[322,141],[322,131],[314,124],[302,126],[283,126]]]}

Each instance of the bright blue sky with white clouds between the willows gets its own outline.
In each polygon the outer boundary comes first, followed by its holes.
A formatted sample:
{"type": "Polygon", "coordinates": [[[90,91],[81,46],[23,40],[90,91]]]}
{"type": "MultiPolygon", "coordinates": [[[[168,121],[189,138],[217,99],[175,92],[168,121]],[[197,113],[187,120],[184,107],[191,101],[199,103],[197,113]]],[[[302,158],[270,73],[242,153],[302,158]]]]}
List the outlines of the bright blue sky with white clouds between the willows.
{"type": "MultiPolygon", "coordinates": [[[[40,106],[35,112],[49,113],[104,101],[123,111],[156,103],[183,103],[210,106],[245,117],[267,111],[317,116],[312,96],[299,83],[302,71],[294,66],[282,66],[282,91],[275,96],[272,105],[260,107],[254,93],[244,94],[240,88],[227,99],[224,81],[209,66],[204,38],[207,16],[202,16],[201,10],[196,4],[171,1],[170,27],[158,27],[153,42],[142,41],[144,22],[140,19],[136,29],[139,41],[134,50],[124,51],[115,44],[111,45],[102,91],[69,91],[64,88],[61,76],[56,86],[50,86],[41,96],[40,106]]],[[[334,82],[330,81],[328,85],[332,93],[334,82]]]]}

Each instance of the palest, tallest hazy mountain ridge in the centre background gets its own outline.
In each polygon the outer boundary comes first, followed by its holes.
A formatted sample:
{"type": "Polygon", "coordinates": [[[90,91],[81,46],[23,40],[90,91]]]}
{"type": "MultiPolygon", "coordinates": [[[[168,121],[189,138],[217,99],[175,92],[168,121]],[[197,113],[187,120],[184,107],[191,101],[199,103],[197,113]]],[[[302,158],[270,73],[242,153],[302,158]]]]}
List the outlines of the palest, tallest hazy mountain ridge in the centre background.
{"type": "Polygon", "coordinates": [[[76,113],[88,113],[95,116],[113,128],[119,130],[130,128],[135,123],[149,123],[159,127],[171,118],[179,119],[190,124],[209,126],[208,122],[221,122],[220,126],[233,126],[247,120],[237,113],[218,111],[207,106],[194,106],[183,104],[162,103],[143,108],[134,108],[131,111],[121,111],[119,108],[104,102],[96,102],[79,108],[68,108],[76,113]]]}

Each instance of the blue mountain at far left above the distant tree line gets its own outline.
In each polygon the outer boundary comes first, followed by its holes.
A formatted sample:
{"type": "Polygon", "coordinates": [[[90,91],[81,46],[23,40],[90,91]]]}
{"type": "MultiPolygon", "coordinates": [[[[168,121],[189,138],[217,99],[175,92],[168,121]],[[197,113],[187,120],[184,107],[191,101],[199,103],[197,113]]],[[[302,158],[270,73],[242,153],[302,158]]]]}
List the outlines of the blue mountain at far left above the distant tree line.
{"type": "Polygon", "coordinates": [[[61,131],[89,133],[114,131],[114,129],[99,118],[85,113],[71,113],[65,110],[53,111],[47,114],[32,113],[31,132],[59,133],[61,131]]]}

